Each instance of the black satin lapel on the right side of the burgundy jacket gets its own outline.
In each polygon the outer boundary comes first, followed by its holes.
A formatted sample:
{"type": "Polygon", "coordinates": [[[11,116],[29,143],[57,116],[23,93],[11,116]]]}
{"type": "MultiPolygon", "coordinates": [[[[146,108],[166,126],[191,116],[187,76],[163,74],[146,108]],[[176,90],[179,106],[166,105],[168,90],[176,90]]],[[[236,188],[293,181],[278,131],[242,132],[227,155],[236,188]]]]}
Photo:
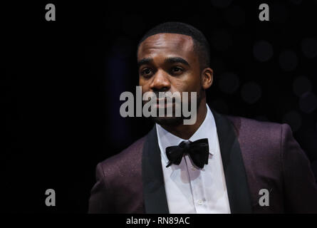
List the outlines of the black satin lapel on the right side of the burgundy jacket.
{"type": "Polygon", "coordinates": [[[214,110],[212,110],[212,114],[217,126],[231,212],[251,213],[251,195],[234,127],[224,115],[220,115],[214,110]]]}

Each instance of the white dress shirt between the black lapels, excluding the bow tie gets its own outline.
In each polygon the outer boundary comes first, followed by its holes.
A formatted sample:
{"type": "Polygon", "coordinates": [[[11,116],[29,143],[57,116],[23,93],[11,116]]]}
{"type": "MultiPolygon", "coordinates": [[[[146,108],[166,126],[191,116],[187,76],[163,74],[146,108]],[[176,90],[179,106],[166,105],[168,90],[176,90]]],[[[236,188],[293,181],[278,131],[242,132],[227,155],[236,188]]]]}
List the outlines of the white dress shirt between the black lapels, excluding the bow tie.
{"type": "Polygon", "coordinates": [[[156,124],[157,140],[161,151],[167,204],[171,214],[230,213],[227,185],[222,167],[214,115],[207,105],[207,115],[202,125],[189,138],[190,141],[207,138],[209,142],[208,165],[197,169],[188,155],[180,165],[170,165],[165,148],[183,141],[156,124]]]}

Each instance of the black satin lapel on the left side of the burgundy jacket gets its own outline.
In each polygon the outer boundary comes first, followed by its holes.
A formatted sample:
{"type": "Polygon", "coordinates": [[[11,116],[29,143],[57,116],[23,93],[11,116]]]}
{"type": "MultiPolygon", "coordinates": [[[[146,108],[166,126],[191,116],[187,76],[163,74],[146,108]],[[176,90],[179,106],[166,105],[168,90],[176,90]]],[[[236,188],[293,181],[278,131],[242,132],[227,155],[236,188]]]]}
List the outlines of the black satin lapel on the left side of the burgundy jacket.
{"type": "Polygon", "coordinates": [[[145,213],[169,214],[165,193],[160,147],[156,128],[147,135],[142,152],[142,182],[145,213]]]}

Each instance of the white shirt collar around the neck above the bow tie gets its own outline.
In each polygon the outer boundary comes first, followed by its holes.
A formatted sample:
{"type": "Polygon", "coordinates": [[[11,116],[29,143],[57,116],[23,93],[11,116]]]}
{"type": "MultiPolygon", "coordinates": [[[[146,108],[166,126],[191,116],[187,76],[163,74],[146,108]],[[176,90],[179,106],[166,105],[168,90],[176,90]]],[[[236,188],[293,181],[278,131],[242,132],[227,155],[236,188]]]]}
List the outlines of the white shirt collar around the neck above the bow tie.
{"type": "MultiPolygon", "coordinates": [[[[214,155],[217,129],[216,129],[216,123],[214,122],[214,115],[212,115],[212,111],[209,109],[209,106],[207,104],[206,106],[207,106],[206,117],[204,118],[202,125],[199,126],[199,128],[192,135],[192,137],[189,138],[189,140],[193,142],[202,138],[207,138],[208,144],[209,144],[209,154],[214,155]]],[[[157,141],[160,146],[161,155],[163,159],[165,160],[165,162],[167,163],[169,162],[169,160],[165,154],[166,147],[179,145],[180,142],[182,142],[184,139],[179,138],[176,135],[173,135],[172,133],[168,132],[167,130],[165,130],[158,124],[156,124],[156,131],[157,131],[157,141]]]]}

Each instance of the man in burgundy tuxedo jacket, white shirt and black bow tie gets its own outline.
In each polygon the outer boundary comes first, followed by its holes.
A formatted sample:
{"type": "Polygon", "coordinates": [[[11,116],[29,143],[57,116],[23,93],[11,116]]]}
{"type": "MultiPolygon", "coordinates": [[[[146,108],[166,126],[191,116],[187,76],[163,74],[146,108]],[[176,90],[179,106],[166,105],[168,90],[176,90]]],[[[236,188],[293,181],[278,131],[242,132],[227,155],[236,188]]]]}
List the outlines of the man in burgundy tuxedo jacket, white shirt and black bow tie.
{"type": "Polygon", "coordinates": [[[90,213],[317,213],[316,181],[289,125],[209,109],[213,71],[200,31],[160,24],[137,61],[142,93],[196,92],[197,120],[153,118],[150,133],[100,162],[90,213]]]}

